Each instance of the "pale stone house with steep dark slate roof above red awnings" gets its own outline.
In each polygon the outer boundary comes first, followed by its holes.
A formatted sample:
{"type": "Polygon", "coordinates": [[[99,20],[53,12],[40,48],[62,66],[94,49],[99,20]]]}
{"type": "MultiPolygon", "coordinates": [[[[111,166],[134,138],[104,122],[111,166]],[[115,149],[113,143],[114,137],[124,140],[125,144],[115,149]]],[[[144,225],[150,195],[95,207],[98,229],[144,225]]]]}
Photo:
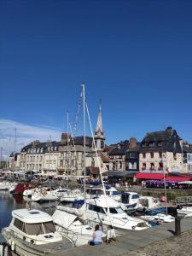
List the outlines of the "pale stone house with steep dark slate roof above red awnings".
{"type": "Polygon", "coordinates": [[[149,132],[141,143],[140,171],[183,172],[182,140],[172,127],[165,131],[149,132]]]}

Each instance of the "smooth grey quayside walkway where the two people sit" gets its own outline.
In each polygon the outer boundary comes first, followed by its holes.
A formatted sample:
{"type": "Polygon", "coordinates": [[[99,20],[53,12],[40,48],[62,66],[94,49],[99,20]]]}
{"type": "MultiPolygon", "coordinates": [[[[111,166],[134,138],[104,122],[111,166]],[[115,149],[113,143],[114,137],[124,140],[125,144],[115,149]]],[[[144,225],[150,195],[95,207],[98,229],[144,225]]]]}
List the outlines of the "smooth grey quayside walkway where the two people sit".
{"type": "MultiPolygon", "coordinates": [[[[139,247],[146,247],[155,241],[162,241],[164,239],[174,236],[175,222],[157,225],[148,230],[142,231],[127,231],[125,236],[119,236],[117,241],[110,244],[102,244],[102,246],[73,247],[57,253],[51,253],[49,256],[116,256],[125,255],[136,251],[139,247]]],[[[192,218],[183,218],[181,220],[181,230],[192,230],[192,218]]]]}

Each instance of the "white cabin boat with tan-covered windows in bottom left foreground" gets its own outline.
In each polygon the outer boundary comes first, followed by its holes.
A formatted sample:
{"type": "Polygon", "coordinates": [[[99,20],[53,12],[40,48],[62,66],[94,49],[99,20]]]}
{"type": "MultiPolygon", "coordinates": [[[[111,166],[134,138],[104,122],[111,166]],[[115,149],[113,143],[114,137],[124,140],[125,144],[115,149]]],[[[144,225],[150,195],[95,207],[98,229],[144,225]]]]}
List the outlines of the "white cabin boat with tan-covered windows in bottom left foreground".
{"type": "Polygon", "coordinates": [[[53,219],[46,212],[19,209],[12,212],[12,217],[3,236],[20,256],[45,255],[73,247],[73,241],[55,230],[53,219]]]}

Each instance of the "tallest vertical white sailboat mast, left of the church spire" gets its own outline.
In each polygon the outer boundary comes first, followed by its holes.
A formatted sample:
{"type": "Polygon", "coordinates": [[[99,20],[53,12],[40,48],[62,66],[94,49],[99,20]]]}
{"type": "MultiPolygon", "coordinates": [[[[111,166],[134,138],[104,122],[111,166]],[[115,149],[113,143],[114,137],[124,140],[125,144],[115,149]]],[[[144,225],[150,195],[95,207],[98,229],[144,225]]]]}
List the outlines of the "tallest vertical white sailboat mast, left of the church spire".
{"type": "Polygon", "coordinates": [[[84,83],[82,83],[82,93],[83,93],[83,109],[84,109],[84,203],[85,201],[85,197],[86,197],[86,189],[85,189],[85,177],[86,177],[86,158],[85,158],[85,154],[86,154],[86,141],[85,141],[85,136],[86,136],[86,126],[85,126],[85,99],[84,99],[84,83]]]}

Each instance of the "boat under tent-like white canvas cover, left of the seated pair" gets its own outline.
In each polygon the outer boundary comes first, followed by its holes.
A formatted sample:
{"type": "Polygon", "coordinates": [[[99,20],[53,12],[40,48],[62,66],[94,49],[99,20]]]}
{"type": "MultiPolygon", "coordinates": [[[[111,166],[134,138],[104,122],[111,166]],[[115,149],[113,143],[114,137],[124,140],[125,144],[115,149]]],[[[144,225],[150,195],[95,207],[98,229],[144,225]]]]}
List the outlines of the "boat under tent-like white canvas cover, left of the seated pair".
{"type": "Polygon", "coordinates": [[[73,239],[75,246],[87,244],[93,236],[94,229],[80,218],[83,215],[84,207],[76,209],[58,206],[52,216],[56,230],[73,239]]]}

